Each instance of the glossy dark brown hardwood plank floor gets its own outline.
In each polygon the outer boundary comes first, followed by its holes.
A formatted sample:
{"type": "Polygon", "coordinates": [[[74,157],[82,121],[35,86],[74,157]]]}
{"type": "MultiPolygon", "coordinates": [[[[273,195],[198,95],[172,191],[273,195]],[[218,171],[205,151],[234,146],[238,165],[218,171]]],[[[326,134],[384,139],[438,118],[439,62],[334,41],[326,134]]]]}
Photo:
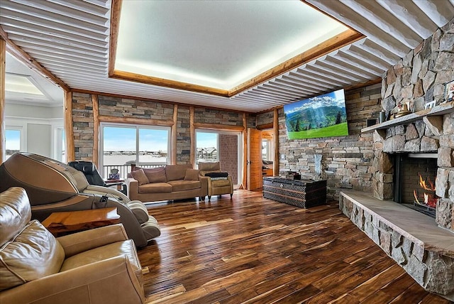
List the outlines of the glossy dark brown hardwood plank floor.
{"type": "Polygon", "coordinates": [[[449,303],[339,210],[262,192],[148,205],[162,234],[138,251],[147,303],[449,303]]]}

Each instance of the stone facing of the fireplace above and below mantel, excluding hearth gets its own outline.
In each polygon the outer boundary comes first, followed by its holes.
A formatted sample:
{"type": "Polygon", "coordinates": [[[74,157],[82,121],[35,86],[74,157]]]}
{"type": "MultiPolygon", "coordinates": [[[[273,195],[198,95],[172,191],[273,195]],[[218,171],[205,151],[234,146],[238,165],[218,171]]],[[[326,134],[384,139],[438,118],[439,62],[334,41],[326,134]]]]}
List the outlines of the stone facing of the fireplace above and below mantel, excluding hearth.
{"type": "MultiPolygon", "coordinates": [[[[432,100],[443,102],[445,82],[454,80],[454,19],[433,33],[415,50],[389,68],[382,80],[382,109],[410,104],[419,111],[432,100]]],[[[392,199],[393,168],[390,153],[438,153],[436,195],[441,197],[436,221],[454,230],[454,114],[439,118],[442,127],[428,120],[393,126],[374,134],[374,196],[392,199]]]]}

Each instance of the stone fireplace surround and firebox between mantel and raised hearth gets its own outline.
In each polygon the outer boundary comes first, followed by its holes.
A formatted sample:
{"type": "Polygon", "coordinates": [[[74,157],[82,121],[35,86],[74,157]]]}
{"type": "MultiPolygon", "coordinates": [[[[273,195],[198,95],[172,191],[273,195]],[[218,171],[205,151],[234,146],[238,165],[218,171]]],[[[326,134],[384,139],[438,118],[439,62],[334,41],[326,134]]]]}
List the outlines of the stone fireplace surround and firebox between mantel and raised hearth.
{"type": "MultiPolygon", "coordinates": [[[[453,107],[452,104],[442,104],[439,107],[443,106],[445,108],[453,107]]],[[[406,125],[377,129],[374,135],[376,172],[373,178],[375,197],[381,200],[402,202],[401,200],[411,197],[409,192],[413,192],[414,186],[408,189],[405,183],[402,185],[402,180],[399,180],[397,175],[401,177],[410,175],[411,178],[419,180],[419,173],[421,172],[427,180],[430,175],[436,173],[431,180],[435,185],[433,194],[439,197],[436,206],[434,206],[436,223],[451,232],[454,231],[453,122],[454,114],[451,113],[442,116],[423,116],[420,120],[406,125]],[[438,126],[434,126],[433,121],[438,121],[438,126]],[[402,156],[416,153],[422,157],[418,160],[407,160],[411,165],[410,169],[399,168],[400,172],[396,172],[397,168],[394,166],[396,160],[402,161],[402,156]],[[422,153],[428,153],[430,157],[423,157],[422,153]],[[435,158],[430,160],[432,156],[435,158]],[[424,168],[424,166],[426,167],[424,168]],[[399,192],[401,195],[397,197],[399,192]]]]}

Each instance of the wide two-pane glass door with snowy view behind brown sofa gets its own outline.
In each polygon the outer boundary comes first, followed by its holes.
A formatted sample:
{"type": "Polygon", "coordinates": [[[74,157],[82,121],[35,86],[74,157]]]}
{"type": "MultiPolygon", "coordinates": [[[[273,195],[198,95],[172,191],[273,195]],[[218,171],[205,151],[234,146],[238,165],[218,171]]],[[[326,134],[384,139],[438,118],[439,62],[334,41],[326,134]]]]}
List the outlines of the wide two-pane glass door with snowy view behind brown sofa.
{"type": "Polygon", "coordinates": [[[165,165],[170,151],[170,127],[101,124],[99,172],[106,178],[118,169],[126,178],[134,165],[151,168],[165,165]]]}

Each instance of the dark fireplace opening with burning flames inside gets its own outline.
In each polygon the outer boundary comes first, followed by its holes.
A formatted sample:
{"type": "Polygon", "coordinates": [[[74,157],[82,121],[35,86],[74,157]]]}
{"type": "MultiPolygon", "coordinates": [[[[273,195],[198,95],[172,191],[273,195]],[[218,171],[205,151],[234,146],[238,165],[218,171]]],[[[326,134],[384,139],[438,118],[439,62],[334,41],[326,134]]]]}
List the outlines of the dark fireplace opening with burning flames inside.
{"type": "Polygon", "coordinates": [[[394,201],[435,218],[437,153],[396,153],[394,201]]]}

